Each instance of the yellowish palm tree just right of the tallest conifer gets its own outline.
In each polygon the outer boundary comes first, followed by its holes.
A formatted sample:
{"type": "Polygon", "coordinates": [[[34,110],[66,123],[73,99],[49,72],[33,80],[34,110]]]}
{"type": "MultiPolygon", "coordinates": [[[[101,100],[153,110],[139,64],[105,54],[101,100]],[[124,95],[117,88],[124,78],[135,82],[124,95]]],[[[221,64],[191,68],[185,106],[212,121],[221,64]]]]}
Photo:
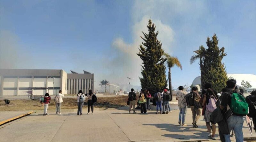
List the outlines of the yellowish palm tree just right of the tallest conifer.
{"type": "Polygon", "coordinates": [[[171,55],[169,55],[168,53],[164,53],[166,60],[166,64],[167,67],[169,69],[168,71],[168,81],[169,81],[169,89],[170,89],[170,93],[172,95],[172,76],[171,76],[171,68],[174,67],[174,65],[176,65],[177,67],[179,67],[182,70],[182,66],[180,64],[180,61],[177,57],[173,57],[171,55]]]}

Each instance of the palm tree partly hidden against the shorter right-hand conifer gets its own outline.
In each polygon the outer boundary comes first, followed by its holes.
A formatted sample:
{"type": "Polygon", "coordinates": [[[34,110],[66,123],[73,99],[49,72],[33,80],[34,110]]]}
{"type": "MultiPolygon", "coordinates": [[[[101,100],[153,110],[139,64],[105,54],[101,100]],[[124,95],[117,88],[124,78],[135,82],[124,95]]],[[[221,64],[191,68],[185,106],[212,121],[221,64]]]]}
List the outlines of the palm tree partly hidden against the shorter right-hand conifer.
{"type": "Polygon", "coordinates": [[[201,71],[201,86],[202,90],[204,90],[204,81],[202,79],[202,75],[204,75],[204,64],[203,64],[203,58],[206,55],[206,50],[203,45],[199,47],[199,50],[194,51],[196,55],[191,56],[190,58],[190,64],[193,64],[197,59],[199,59],[199,64],[200,64],[200,71],[201,71]]]}

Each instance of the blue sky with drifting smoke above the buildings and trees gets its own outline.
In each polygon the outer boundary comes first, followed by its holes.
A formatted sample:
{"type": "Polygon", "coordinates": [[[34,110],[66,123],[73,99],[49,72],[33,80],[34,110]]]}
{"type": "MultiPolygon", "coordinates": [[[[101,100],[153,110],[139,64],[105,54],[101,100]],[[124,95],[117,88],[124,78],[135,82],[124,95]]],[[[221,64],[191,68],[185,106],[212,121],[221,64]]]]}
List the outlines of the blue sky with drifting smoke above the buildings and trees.
{"type": "Polygon", "coordinates": [[[200,75],[189,58],[214,33],[228,54],[227,72],[255,74],[255,0],[0,0],[0,68],[86,70],[97,81],[127,84],[129,76],[140,85],[136,53],[149,18],[183,66],[172,69],[175,88],[200,75]]]}

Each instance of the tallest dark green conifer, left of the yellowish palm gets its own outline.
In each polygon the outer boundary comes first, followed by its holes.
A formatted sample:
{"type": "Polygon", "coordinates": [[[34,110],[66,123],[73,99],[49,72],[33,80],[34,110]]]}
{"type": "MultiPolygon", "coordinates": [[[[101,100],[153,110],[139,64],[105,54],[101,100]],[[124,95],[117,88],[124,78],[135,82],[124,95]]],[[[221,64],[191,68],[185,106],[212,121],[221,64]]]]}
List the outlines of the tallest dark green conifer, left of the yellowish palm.
{"type": "Polygon", "coordinates": [[[156,26],[152,23],[151,19],[148,20],[148,34],[144,32],[144,38],[141,37],[145,42],[140,45],[139,53],[141,60],[143,61],[142,66],[142,78],[140,78],[140,84],[142,88],[147,88],[150,93],[154,94],[158,90],[163,90],[167,86],[167,80],[165,75],[165,58],[162,44],[157,40],[158,31],[155,33],[156,26]]]}

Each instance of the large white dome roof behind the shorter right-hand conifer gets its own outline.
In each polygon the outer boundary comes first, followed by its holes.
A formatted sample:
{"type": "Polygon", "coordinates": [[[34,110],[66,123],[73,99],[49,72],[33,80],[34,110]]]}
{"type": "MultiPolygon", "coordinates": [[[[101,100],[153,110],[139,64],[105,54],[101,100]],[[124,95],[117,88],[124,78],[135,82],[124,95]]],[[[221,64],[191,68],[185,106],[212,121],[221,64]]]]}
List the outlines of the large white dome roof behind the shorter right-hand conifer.
{"type": "MultiPolygon", "coordinates": [[[[250,89],[256,88],[256,75],[254,74],[227,74],[227,76],[228,78],[231,77],[236,79],[236,84],[238,86],[241,86],[241,82],[244,80],[245,82],[248,81],[251,84],[252,87],[250,89]]],[[[201,84],[201,76],[198,76],[193,80],[193,86],[198,84],[201,84]]]]}

